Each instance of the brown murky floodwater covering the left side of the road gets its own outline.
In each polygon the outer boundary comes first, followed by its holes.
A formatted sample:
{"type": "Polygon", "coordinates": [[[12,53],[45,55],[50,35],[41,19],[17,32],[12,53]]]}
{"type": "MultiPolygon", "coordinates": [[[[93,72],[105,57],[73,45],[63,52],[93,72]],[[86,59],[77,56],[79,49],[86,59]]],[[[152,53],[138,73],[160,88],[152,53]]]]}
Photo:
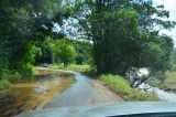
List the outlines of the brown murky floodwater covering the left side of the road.
{"type": "Polygon", "coordinates": [[[7,91],[0,91],[0,117],[42,109],[46,103],[75,83],[74,75],[68,73],[37,71],[38,75],[26,77],[12,84],[7,91]]]}

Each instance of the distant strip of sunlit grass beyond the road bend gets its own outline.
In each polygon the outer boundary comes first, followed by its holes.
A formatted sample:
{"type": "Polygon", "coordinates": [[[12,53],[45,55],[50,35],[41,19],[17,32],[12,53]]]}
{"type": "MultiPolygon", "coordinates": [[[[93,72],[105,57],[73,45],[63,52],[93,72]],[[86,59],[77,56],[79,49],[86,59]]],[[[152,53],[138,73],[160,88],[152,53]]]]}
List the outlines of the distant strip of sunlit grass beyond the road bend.
{"type": "Polygon", "coordinates": [[[90,65],[75,65],[75,64],[72,64],[67,67],[64,67],[62,64],[52,64],[52,65],[50,65],[50,67],[62,68],[62,70],[66,70],[66,71],[76,71],[76,72],[81,72],[81,73],[90,71],[90,65]]]}

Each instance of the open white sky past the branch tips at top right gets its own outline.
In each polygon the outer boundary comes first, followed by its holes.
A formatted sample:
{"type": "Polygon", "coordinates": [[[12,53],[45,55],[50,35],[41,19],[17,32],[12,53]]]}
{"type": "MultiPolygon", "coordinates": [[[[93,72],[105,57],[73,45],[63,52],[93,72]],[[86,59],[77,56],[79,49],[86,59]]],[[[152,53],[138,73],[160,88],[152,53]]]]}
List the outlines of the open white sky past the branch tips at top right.
{"type": "MultiPolygon", "coordinates": [[[[169,20],[176,21],[176,0],[153,0],[157,4],[164,4],[165,10],[169,11],[169,20]]],[[[176,28],[172,31],[162,31],[161,33],[165,33],[170,35],[175,41],[176,46],[176,28]]]]}

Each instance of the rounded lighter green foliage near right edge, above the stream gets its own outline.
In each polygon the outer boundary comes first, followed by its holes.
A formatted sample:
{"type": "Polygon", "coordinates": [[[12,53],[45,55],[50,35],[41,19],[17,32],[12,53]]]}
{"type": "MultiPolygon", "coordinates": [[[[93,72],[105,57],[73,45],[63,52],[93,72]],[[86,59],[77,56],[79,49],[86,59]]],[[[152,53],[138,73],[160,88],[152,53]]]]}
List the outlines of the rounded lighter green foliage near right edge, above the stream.
{"type": "Polygon", "coordinates": [[[146,44],[144,49],[143,63],[148,66],[153,73],[157,71],[167,71],[170,68],[170,53],[173,51],[173,39],[166,35],[154,39],[146,44]]]}

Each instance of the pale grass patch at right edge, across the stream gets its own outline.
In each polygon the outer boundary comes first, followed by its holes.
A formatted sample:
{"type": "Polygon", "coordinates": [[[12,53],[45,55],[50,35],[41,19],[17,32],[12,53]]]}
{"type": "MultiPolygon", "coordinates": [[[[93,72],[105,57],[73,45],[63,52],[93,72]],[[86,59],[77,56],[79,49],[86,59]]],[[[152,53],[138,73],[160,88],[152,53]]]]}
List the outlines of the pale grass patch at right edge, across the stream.
{"type": "Polygon", "coordinates": [[[166,72],[166,79],[164,81],[164,87],[176,89],[176,72],[166,72]]]}

